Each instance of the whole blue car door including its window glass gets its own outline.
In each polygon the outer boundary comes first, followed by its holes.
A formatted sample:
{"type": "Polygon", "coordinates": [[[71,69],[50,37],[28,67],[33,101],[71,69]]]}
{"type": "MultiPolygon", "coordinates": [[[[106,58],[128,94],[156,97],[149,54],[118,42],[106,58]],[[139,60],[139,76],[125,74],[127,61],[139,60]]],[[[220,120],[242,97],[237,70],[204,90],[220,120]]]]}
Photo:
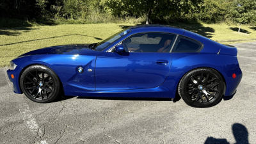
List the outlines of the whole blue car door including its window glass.
{"type": "Polygon", "coordinates": [[[95,90],[160,86],[170,71],[170,48],[176,35],[140,33],[126,38],[126,52],[104,52],[95,64],[95,90]]]}

